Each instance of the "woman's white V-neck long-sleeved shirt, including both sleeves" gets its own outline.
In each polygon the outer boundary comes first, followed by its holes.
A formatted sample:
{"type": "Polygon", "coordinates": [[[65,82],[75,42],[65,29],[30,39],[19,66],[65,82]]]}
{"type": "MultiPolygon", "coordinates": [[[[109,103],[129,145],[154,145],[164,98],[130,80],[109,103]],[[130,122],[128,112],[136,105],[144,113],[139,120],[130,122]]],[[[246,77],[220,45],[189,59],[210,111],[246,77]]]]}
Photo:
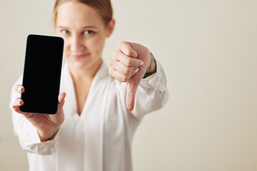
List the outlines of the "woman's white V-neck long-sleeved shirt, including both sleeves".
{"type": "MultiPolygon", "coordinates": [[[[22,76],[14,84],[22,83],[22,76]]],[[[160,63],[141,81],[132,113],[126,108],[126,83],[109,76],[102,64],[91,84],[81,115],[77,114],[74,84],[67,64],[60,92],[66,92],[64,123],[54,140],[41,142],[34,125],[12,110],[14,133],[27,151],[29,170],[131,171],[131,142],[143,116],[168,100],[166,77],[160,63]]],[[[11,105],[19,93],[11,92],[11,105]]],[[[44,114],[42,114],[44,115],[44,114]]]]}

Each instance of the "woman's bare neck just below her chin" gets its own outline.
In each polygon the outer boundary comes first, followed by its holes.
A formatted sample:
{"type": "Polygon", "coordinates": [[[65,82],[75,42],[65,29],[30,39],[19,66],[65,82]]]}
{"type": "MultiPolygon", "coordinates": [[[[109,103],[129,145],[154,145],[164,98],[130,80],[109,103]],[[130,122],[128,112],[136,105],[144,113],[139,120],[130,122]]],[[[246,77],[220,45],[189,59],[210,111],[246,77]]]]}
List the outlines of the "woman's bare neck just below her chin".
{"type": "Polygon", "coordinates": [[[100,62],[96,63],[95,65],[89,66],[87,68],[72,68],[69,66],[69,71],[71,72],[71,76],[74,81],[91,81],[93,80],[94,76],[96,76],[97,71],[101,67],[103,60],[101,59],[100,62]]]}

